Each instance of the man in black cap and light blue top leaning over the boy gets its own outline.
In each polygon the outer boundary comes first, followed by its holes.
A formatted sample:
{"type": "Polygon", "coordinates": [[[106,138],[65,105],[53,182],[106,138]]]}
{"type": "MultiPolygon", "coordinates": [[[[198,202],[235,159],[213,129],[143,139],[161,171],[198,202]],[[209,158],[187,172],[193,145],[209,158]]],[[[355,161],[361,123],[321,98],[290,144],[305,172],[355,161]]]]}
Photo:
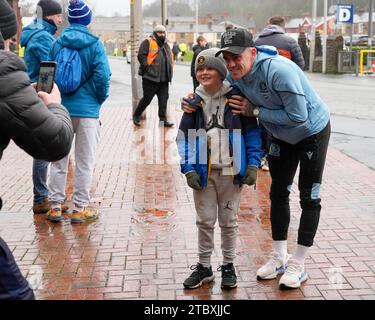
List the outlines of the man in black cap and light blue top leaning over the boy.
{"type": "MultiPolygon", "coordinates": [[[[329,109],[294,62],[280,56],[275,47],[255,47],[246,30],[223,33],[217,54],[223,54],[229,82],[246,97],[238,98],[232,108],[258,118],[272,134],[268,162],[273,252],[257,277],[274,279],[284,273],[280,288],[298,288],[307,279],[304,262],[319,224],[320,188],[331,132],[329,109]],[[302,214],[297,247],[290,256],[289,195],[298,165],[302,214]]],[[[195,110],[186,105],[184,109],[195,110]]]]}

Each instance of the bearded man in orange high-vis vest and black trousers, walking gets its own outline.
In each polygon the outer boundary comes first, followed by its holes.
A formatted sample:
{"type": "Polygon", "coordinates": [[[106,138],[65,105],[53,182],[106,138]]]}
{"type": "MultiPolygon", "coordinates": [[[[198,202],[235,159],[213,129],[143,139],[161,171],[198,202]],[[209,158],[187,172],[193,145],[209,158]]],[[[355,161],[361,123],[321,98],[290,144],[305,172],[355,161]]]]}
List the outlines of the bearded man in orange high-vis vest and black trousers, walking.
{"type": "Polygon", "coordinates": [[[155,95],[158,97],[159,126],[172,127],[167,120],[169,83],[173,76],[173,54],[166,41],[166,29],[162,25],[154,28],[152,35],[145,39],[138,51],[140,63],[138,74],[142,76],[143,97],[133,114],[133,123],[141,125],[141,115],[155,95]]]}

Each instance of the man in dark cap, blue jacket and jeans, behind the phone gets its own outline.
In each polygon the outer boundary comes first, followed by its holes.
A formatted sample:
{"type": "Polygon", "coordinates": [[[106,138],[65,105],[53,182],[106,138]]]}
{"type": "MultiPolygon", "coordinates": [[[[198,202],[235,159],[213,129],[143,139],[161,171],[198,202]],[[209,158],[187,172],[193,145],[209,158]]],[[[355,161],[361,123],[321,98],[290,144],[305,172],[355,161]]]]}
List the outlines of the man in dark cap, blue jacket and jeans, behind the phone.
{"type": "MultiPolygon", "coordinates": [[[[55,38],[53,35],[62,23],[61,5],[54,0],[40,0],[37,5],[37,17],[23,28],[21,46],[25,47],[24,59],[27,73],[32,82],[38,81],[39,66],[49,60],[49,51],[55,38]],[[42,18],[42,19],[40,19],[42,18]]],[[[47,173],[49,162],[33,160],[34,213],[46,213],[49,209],[47,173]]]]}

